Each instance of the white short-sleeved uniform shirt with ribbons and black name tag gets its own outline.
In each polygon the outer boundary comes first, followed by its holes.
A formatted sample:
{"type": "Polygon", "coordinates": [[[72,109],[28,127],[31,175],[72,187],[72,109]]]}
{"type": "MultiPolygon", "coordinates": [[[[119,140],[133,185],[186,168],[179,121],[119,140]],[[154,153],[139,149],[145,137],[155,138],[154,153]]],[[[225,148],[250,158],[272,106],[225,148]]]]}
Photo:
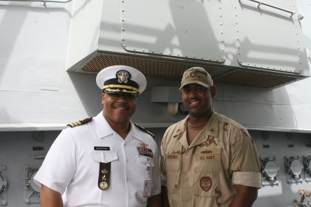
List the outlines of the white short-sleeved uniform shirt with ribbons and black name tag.
{"type": "Polygon", "coordinates": [[[153,152],[151,195],[161,190],[158,149],[153,138],[131,123],[122,139],[100,112],[82,126],[66,128],[51,146],[46,159],[34,177],[35,183],[63,195],[64,206],[146,206],[143,197],[147,157],[139,155],[141,143],[153,152]],[[95,146],[110,150],[94,150],[95,146]],[[111,162],[109,188],[98,187],[100,162],[111,162]]]}

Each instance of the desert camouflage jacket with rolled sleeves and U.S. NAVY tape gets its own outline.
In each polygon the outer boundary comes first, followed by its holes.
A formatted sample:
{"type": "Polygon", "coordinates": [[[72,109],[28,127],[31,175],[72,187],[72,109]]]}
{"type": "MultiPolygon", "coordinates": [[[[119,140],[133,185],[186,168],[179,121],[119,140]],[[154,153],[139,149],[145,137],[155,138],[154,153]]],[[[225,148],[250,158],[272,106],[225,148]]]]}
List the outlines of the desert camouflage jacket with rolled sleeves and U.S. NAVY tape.
{"type": "Polygon", "coordinates": [[[236,195],[234,185],[261,188],[256,147],[243,126],[213,110],[189,146],[187,120],[170,126],[161,144],[162,182],[171,207],[225,207],[236,195]]]}

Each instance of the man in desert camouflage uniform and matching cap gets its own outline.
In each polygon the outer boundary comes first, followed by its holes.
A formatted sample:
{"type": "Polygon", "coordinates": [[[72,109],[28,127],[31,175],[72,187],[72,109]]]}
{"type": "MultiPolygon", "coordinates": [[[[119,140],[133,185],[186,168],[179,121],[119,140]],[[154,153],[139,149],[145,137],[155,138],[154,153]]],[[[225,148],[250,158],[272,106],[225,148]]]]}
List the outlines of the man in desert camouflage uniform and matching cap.
{"type": "Polygon", "coordinates": [[[184,72],[180,95],[189,116],[169,127],[162,139],[164,206],[252,206],[261,188],[252,137],[214,112],[216,87],[205,69],[184,72]]]}

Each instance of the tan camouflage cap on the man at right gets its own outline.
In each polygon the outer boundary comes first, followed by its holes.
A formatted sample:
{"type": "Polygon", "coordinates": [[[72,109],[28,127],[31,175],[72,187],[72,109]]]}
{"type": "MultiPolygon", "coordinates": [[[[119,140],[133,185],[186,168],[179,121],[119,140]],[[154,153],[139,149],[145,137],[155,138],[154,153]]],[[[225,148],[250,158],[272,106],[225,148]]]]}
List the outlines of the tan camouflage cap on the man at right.
{"type": "Polygon", "coordinates": [[[190,83],[198,83],[205,87],[214,85],[209,73],[204,68],[200,67],[194,67],[185,70],[184,75],[182,75],[182,82],[179,90],[190,83]]]}

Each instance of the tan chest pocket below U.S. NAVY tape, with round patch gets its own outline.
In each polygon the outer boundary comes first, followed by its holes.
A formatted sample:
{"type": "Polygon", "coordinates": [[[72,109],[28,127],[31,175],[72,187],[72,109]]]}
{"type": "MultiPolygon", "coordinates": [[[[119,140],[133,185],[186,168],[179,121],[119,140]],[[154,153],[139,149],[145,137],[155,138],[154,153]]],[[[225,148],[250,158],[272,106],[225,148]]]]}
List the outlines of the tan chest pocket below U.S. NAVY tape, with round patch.
{"type": "Polygon", "coordinates": [[[220,149],[217,154],[195,155],[194,195],[215,197],[219,189],[220,149]]]}

